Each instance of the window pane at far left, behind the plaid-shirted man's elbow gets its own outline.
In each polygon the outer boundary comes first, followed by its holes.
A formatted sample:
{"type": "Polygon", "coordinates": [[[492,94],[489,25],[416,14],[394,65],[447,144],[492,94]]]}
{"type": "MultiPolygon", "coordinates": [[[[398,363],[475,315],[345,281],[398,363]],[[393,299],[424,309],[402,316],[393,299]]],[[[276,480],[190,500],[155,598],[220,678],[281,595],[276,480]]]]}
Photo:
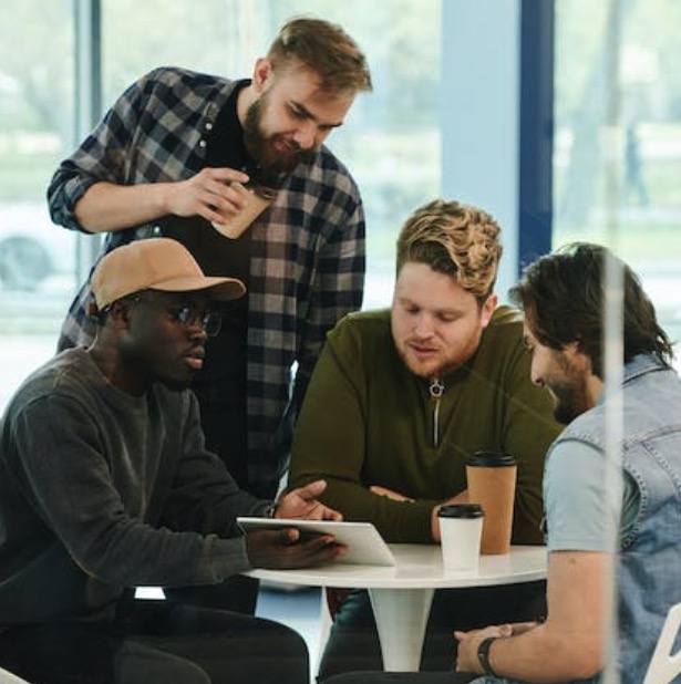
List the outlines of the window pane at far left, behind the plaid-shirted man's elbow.
{"type": "Polygon", "coordinates": [[[75,286],[75,236],[45,189],[72,144],[72,3],[6,2],[0,22],[0,408],[54,351],[75,286]]]}

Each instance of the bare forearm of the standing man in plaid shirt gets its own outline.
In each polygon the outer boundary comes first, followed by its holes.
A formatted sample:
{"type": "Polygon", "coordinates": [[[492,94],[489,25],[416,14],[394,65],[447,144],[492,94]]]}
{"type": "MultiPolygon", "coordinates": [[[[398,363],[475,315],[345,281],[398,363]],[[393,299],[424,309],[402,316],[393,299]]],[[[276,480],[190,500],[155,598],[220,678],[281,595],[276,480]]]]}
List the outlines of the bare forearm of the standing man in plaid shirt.
{"type": "Polygon", "coordinates": [[[79,224],[89,232],[109,232],[138,226],[169,214],[172,183],[93,185],[75,205],[79,224]]]}

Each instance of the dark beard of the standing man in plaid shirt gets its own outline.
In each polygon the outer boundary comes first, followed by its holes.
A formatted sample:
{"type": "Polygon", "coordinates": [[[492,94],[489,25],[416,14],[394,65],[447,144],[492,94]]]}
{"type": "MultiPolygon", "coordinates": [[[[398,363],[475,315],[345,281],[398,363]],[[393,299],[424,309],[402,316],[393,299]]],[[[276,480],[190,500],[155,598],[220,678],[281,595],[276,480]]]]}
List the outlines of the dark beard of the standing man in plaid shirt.
{"type": "Polygon", "coordinates": [[[271,138],[262,135],[260,120],[262,118],[262,102],[266,95],[256,100],[246,112],[244,122],[244,144],[248,154],[259,166],[259,177],[252,180],[266,187],[276,187],[281,175],[291,174],[300,164],[311,162],[316,149],[298,149],[291,155],[279,155],[271,148],[271,138]]]}

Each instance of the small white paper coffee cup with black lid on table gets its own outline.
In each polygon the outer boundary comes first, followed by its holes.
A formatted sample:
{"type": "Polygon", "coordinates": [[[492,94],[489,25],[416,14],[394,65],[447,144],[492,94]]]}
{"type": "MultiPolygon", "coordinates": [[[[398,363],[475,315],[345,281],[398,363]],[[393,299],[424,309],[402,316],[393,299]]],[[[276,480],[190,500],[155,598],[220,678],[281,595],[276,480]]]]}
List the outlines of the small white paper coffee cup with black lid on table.
{"type": "Polygon", "coordinates": [[[483,533],[483,508],[477,504],[442,506],[437,511],[445,570],[476,571],[483,533]]]}

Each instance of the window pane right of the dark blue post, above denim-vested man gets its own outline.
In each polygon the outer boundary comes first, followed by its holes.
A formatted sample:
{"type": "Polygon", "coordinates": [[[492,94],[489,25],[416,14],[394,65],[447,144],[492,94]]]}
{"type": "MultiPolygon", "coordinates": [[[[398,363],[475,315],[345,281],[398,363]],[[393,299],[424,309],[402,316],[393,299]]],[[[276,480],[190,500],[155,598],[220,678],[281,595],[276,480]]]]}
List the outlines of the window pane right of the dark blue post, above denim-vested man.
{"type": "Polygon", "coordinates": [[[611,247],[681,340],[681,4],[556,7],[554,245],[611,247]]]}

